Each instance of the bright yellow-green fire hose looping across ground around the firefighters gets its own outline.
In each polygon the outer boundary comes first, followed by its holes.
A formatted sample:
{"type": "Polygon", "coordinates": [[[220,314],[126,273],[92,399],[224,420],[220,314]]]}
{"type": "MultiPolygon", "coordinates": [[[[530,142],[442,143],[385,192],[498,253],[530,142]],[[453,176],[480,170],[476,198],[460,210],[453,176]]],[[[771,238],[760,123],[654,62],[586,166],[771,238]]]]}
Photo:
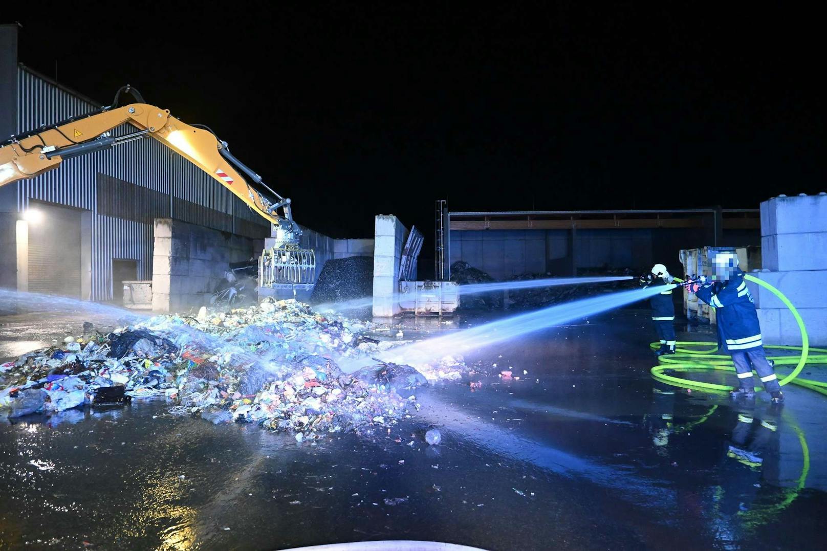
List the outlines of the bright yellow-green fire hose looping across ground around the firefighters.
{"type": "MultiPolygon", "coordinates": [[[[810,390],[815,390],[816,392],[820,392],[823,395],[827,395],[827,383],[821,381],[811,381],[810,379],[801,379],[798,376],[799,373],[801,373],[801,370],[804,369],[804,366],[808,363],[827,364],[827,349],[810,347],[810,338],[807,335],[807,330],[804,326],[804,321],[801,319],[801,315],[798,314],[798,310],[796,310],[796,307],[792,305],[790,300],[787,299],[786,296],[780,290],[777,290],[774,286],[768,284],[766,281],[759,280],[758,278],[753,277],[752,275],[744,275],[744,279],[752,281],[753,283],[761,285],[765,289],[772,291],[772,294],[776,295],[778,299],[780,299],[786,305],[786,307],[790,309],[791,314],[796,319],[796,323],[798,323],[798,328],[801,330],[802,346],[800,347],[764,345],[765,348],[769,348],[772,350],[801,352],[797,355],[767,357],[767,359],[770,359],[773,362],[775,362],[776,366],[796,366],[789,375],[783,377],[780,381],[778,381],[778,383],[781,386],[784,386],[787,383],[791,382],[798,386],[804,386],[805,388],[808,388],[810,390]]],[[[710,370],[730,372],[735,371],[734,365],[732,363],[732,358],[729,355],[715,354],[715,352],[718,352],[718,343],[681,341],[676,344],[678,345],[678,347],[676,347],[675,354],[658,357],[658,362],[660,362],[660,365],[653,367],[651,370],[652,376],[655,379],[657,379],[658,381],[665,382],[667,383],[667,385],[681,386],[684,388],[691,388],[696,390],[711,390],[715,392],[729,392],[729,390],[734,390],[732,386],[718,385],[715,383],[709,383],[704,381],[692,381],[691,379],[686,379],[679,376],[667,375],[667,373],[665,372],[667,370],[685,372],[710,370]],[[697,349],[689,347],[703,348],[697,349]]],[[[650,347],[652,347],[653,349],[657,349],[657,347],[659,346],[660,343],[652,343],[650,345],[650,347]]],[[[755,390],[762,390],[762,388],[756,387],[755,390]]]]}

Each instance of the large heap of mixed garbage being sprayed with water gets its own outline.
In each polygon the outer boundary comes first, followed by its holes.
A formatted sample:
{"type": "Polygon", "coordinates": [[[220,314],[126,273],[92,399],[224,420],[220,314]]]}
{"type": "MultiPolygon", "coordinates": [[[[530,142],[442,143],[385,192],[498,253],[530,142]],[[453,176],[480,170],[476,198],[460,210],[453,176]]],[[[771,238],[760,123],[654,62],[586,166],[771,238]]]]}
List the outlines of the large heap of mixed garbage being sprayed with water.
{"type": "Polygon", "coordinates": [[[370,338],[370,323],[265,299],[226,313],[156,316],[109,334],[89,331],[0,366],[0,415],[51,414],[164,395],[174,414],[251,422],[296,438],[390,425],[418,409],[411,390],[461,378],[461,357],[423,371],[375,360],[351,374],[337,360],[378,357],[399,342],[370,338]]]}

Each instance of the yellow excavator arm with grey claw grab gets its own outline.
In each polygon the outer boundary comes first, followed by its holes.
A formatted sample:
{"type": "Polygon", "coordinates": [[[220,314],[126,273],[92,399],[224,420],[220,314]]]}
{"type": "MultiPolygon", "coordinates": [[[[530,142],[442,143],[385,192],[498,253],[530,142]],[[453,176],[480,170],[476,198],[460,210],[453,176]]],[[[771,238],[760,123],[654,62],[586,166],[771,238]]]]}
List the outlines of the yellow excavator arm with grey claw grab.
{"type": "Polygon", "coordinates": [[[275,246],[265,249],[259,260],[260,285],[313,283],[315,254],[313,250],[299,247],[302,231],[293,220],[290,199],[267,187],[261,176],[238,161],[230,153],[227,142],[219,140],[208,127],[189,125],[171,116],[169,109],[144,103],[141,94],[128,85],[117,91],[109,107],[24,132],[0,143],[0,186],[34,178],[56,169],[67,159],[146,137],[155,138],[192,161],[273,224],[275,246]],[[122,93],[131,94],[138,103],[119,107],[122,93]],[[124,124],[130,124],[136,131],[112,136],[112,130],[124,124]],[[240,172],[275,199],[268,199],[252,187],[240,172]]]}

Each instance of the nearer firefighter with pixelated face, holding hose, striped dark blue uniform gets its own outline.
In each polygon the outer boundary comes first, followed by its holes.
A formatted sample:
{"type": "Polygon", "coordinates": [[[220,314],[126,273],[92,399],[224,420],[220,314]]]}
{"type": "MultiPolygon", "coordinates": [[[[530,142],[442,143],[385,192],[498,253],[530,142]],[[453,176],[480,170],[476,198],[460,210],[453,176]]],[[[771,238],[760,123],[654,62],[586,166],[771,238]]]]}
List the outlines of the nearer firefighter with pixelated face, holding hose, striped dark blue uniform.
{"type": "Polygon", "coordinates": [[[755,395],[754,369],[772,396],[772,402],[782,403],[784,395],[772,364],[764,353],[761,325],[755,312],[753,295],[743,280],[738,256],[732,252],[717,252],[713,259],[713,270],[711,280],[704,280],[703,285],[689,285],[689,290],[716,309],[719,349],[732,356],[738,374],[739,389],[731,395],[748,398],[755,395]]]}

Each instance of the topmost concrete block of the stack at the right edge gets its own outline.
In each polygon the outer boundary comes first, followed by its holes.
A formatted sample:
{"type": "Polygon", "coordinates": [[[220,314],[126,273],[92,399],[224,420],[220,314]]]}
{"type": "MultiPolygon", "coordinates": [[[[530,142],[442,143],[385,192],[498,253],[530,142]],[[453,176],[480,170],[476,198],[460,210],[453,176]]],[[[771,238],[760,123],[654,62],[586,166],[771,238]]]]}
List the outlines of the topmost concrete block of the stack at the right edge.
{"type": "Polygon", "coordinates": [[[827,194],[773,197],[761,204],[761,235],[827,232],[827,194]]]}

